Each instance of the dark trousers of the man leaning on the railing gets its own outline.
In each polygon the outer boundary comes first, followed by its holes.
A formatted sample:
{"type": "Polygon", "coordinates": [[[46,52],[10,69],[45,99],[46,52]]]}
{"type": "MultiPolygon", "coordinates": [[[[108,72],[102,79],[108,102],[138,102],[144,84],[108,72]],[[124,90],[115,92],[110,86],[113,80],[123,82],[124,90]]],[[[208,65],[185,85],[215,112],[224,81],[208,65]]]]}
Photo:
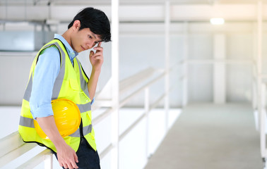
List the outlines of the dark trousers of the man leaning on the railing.
{"type": "MultiPolygon", "coordinates": [[[[100,159],[95,151],[84,137],[81,137],[81,144],[76,152],[78,156],[79,169],[100,169],[100,159]]],[[[57,154],[54,153],[57,157],[57,154]]]]}

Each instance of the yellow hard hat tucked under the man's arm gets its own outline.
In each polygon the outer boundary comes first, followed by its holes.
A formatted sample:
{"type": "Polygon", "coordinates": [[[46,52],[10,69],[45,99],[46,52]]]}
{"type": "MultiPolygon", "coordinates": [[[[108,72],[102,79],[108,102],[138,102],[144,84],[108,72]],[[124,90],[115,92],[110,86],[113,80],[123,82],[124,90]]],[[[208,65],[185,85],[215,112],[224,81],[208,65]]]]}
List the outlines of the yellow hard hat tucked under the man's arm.
{"type": "MultiPolygon", "coordinates": [[[[62,137],[76,132],[81,123],[81,113],[76,104],[69,99],[55,99],[51,101],[54,120],[62,137]]],[[[49,139],[42,131],[37,120],[33,120],[37,134],[43,139],[49,139]]]]}

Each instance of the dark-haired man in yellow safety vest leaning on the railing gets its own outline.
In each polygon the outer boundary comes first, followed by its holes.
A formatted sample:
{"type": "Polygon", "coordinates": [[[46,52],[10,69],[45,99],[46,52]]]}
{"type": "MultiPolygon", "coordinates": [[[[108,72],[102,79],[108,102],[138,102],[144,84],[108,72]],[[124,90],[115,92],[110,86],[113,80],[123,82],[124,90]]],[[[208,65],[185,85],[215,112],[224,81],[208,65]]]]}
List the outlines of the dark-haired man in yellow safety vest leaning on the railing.
{"type": "Polygon", "coordinates": [[[63,35],[55,35],[38,52],[32,63],[28,86],[23,97],[18,131],[24,142],[37,142],[51,149],[63,168],[100,168],[90,104],[93,102],[103,63],[102,42],[110,41],[110,25],[105,13],[84,8],[72,20],[63,35]],[[88,49],[92,71],[85,74],[76,56],[88,49]],[[54,120],[51,101],[68,99],[81,112],[81,125],[61,137],[54,120]],[[49,139],[37,134],[37,120],[49,139]]]}

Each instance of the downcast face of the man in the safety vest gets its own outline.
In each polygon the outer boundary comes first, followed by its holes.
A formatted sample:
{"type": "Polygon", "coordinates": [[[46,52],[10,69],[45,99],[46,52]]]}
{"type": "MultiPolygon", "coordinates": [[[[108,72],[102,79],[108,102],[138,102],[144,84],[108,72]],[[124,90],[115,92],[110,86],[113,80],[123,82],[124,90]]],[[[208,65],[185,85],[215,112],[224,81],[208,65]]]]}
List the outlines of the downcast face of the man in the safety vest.
{"type": "Polygon", "coordinates": [[[93,48],[98,42],[101,42],[99,35],[95,35],[89,28],[77,30],[71,38],[71,46],[78,53],[93,48]]]}

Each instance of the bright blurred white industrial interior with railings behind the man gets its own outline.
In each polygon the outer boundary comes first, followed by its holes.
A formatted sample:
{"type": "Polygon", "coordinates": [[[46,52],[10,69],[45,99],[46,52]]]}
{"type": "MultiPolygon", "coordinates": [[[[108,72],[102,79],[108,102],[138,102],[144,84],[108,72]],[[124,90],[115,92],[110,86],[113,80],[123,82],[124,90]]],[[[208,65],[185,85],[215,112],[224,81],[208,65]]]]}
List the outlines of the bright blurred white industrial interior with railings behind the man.
{"type": "Polygon", "coordinates": [[[37,51],[88,6],[112,25],[93,104],[102,168],[265,168],[267,1],[0,0],[1,168],[60,168],[19,141],[20,106],[37,51]]]}

